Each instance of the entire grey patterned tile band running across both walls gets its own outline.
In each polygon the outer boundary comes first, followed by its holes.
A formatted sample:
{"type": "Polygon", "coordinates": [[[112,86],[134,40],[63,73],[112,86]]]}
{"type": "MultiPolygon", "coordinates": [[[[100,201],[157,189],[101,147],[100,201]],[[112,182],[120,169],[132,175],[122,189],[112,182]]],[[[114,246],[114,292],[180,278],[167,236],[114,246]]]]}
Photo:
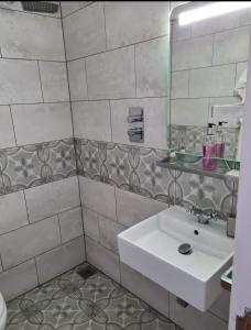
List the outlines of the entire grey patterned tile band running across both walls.
{"type": "Polygon", "coordinates": [[[238,187],[156,166],[166,151],[85,139],[0,150],[0,195],[81,175],[168,205],[234,211],[238,187]]]}

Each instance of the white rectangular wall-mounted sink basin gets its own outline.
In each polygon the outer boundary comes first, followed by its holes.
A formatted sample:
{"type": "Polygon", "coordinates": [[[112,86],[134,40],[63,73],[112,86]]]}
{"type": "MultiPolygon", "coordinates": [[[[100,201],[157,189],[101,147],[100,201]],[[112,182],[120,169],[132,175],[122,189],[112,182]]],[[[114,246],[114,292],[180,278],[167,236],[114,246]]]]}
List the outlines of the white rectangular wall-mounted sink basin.
{"type": "Polygon", "coordinates": [[[220,277],[233,256],[223,221],[200,224],[176,206],[121,232],[118,245],[124,264],[201,311],[220,295],[220,277]],[[192,253],[178,252],[184,243],[192,253]]]}

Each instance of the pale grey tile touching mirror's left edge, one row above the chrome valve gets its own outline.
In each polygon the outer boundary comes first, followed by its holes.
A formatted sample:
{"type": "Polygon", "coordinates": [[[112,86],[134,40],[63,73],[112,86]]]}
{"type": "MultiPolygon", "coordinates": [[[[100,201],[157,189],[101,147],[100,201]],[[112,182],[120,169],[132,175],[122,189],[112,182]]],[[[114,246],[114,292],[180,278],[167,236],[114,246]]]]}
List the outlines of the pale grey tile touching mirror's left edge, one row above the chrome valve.
{"type": "Polygon", "coordinates": [[[167,95],[168,36],[135,45],[137,96],[167,95]]]}

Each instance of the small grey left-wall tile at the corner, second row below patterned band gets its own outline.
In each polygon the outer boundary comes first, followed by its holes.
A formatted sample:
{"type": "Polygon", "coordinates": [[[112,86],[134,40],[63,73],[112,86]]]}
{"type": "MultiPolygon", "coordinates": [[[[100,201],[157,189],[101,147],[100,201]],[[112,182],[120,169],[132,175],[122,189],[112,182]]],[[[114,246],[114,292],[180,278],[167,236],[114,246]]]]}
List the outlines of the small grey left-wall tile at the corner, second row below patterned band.
{"type": "Polygon", "coordinates": [[[80,207],[58,215],[62,243],[70,241],[83,234],[80,207]]]}

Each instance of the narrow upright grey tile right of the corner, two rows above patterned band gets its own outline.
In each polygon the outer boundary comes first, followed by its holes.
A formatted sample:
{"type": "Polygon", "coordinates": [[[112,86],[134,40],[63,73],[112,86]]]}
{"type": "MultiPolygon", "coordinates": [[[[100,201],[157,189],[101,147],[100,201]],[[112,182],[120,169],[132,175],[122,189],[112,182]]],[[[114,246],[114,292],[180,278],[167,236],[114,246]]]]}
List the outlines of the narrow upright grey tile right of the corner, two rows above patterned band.
{"type": "Polygon", "coordinates": [[[87,82],[85,59],[76,59],[67,63],[70,100],[86,100],[87,99],[87,82]]]}

